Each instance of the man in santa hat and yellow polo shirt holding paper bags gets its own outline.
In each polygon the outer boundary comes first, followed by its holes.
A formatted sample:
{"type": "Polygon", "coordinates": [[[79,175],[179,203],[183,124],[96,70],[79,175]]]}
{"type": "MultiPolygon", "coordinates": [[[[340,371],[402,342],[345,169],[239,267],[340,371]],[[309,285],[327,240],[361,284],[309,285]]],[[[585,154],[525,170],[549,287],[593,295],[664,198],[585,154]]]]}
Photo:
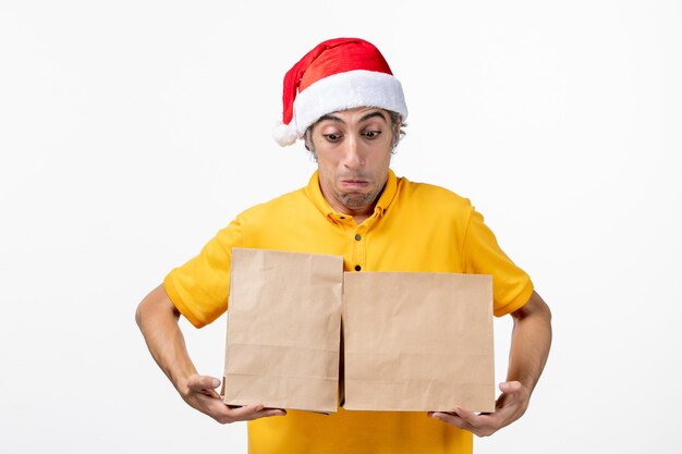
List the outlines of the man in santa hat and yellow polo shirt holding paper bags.
{"type": "Polygon", "coordinates": [[[472,452],[472,433],[489,435],[525,412],[549,352],[547,305],[468,200],[389,169],[407,109],[400,82],[373,45],[351,38],[318,45],[288,72],[283,102],[276,139],[303,138],[317,172],[306,187],[241,213],[145,297],[136,319],[154,358],[194,408],[223,424],[249,420],[249,452],[472,452]],[[492,274],[495,314],[514,320],[497,410],[340,408],[324,416],[226,406],[215,391],[220,381],[194,368],[178,318],[203,327],[227,310],[233,247],[340,255],[345,271],[492,274]]]}

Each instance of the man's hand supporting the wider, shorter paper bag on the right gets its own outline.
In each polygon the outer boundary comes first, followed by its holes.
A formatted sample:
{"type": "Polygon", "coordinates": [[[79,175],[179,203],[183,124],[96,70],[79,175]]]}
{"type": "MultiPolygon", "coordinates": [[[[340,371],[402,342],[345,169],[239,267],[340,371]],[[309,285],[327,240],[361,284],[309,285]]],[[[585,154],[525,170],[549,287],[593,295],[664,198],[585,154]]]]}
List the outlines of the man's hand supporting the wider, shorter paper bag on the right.
{"type": "Polygon", "coordinates": [[[528,407],[531,391],[517,381],[500,383],[500,397],[491,414],[476,414],[455,407],[452,412],[430,412],[428,416],[468,430],[478,437],[488,437],[521,418],[528,407]]]}

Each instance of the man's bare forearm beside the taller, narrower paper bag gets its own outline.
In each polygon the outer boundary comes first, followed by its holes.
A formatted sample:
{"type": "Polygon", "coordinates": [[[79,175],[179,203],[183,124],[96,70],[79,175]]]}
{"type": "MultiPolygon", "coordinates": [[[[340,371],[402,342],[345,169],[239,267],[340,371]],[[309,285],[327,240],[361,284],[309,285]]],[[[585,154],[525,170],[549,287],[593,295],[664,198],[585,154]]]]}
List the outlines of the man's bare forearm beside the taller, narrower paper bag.
{"type": "Polygon", "coordinates": [[[196,373],[196,368],[187,354],[178,318],[179,312],[162,285],[142,300],[135,314],[151,356],[182,394],[186,392],[183,388],[187,378],[196,373]]]}

